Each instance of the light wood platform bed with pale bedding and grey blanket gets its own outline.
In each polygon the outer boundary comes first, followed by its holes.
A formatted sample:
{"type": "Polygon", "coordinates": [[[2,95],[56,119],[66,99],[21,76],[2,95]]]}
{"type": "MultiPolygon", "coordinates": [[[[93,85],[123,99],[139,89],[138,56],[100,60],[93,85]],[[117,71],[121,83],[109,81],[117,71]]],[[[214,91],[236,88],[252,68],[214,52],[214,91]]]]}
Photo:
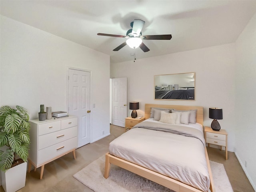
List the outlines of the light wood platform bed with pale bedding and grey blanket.
{"type": "MultiPolygon", "coordinates": [[[[138,124],[136,128],[132,128],[110,143],[110,152],[106,154],[104,177],[108,178],[109,176],[110,164],[115,164],[176,192],[206,192],[209,191],[209,189],[211,192],[215,192],[208,154],[203,138],[203,108],[196,106],[146,104],[145,118],[146,120],[138,124]],[[156,128],[148,128],[149,124],[150,126],[157,124],[150,118],[150,116],[152,116],[152,114],[150,114],[152,108],[196,110],[196,122],[193,124],[193,126],[199,126],[196,131],[193,129],[193,132],[196,132],[196,138],[194,138],[194,136],[184,137],[180,134],[173,134],[170,133],[169,130],[166,132],[165,128],[167,128],[167,125],[160,126],[164,131],[156,130],[156,128]],[[147,128],[143,128],[143,126],[147,128]],[[201,134],[199,132],[201,132],[201,134]],[[160,136],[160,139],[158,136],[160,136]],[[147,143],[147,140],[154,142],[147,143]],[[162,140],[164,144],[161,143],[162,140]],[[140,144],[138,144],[138,142],[140,142],[140,144]],[[166,142],[176,143],[170,144],[166,142]],[[165,153],[166,146],[168,146],[168,153],[165,153]],[[177,148],[177,146],[183,146],[184,151],[177,148]],[[137,151],[136,148],[141,148],[142,152],[139,149],[137,151]],[[192,151],[191,148],[196,148],[196,150],[192,151]],[[175,151],[180,151],[180,155],[172,156],[172,154],[175,154],[175,151]],[[190,151],[192,154],[196,153],[196,155],[191,155],[190,151]],[[191,168],[186,165],[184,166],[183,163],[186,162],[188,162],[190,166],[192,164],[191,168]],[[177,166],[177,164],[180,164],[180,166],[177,166]],[[194,166],[194,164],[196,166],[194,166]],[[202,168],[198,168],[197,164],[203,164],[202,168]],[[194,173],[192,170],[198,173],[194,173]],[[190,180],[191,178],[192,180],[190,180]]],[[[185,132],[187,132],[187,130],[190,130],[191,128],[188,126],[190,125],[182,126],[182,131],[186,130],[185,132]]],[[[176,127],[176,125],[174,125],[174,127],[176,127]]],[[[180,127],[178,127],[178,129],[180,129],[180,127]]],[[[171,130],[174,131],[174,128],[171,130]]]]}

